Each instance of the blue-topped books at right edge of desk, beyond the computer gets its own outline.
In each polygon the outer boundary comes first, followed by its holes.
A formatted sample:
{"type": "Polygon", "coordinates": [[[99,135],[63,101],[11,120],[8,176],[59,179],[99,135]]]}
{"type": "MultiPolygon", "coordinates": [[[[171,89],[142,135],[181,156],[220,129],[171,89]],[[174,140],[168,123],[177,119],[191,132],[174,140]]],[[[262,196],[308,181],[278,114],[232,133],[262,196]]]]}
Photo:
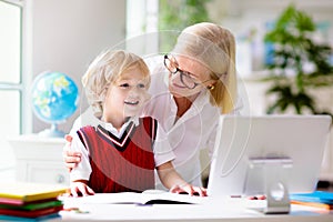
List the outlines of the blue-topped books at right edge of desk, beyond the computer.
{"type": "Polygon", "coordinates": [[[333,193],[314,191],[313,193],[295,193],[290,195],[291,203],[333,210],[333,193]]]}

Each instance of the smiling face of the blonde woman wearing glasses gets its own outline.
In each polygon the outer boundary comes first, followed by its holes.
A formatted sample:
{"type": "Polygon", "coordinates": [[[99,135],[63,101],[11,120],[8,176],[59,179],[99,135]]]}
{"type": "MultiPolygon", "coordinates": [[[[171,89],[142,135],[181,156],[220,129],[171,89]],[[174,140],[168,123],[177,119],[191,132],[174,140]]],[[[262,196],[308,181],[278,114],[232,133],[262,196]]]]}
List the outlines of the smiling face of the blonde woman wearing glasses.
{"type": "Polygon", "coordinates": [[[178,56],[171,58],[170,61],[172,63],[171,65],[176,67],[178,70],[186,72],[188,75],[181,77],[180,71],[176,71],[175,73],[169,73],[169,91],[174,97],[195,95],[208,85],[214,83],[214,80],[211,80],[210,77],[211,71],[198,60],[189,57],[178,56]],[[191,83],[186,84],[186,78],[191,83]]]}

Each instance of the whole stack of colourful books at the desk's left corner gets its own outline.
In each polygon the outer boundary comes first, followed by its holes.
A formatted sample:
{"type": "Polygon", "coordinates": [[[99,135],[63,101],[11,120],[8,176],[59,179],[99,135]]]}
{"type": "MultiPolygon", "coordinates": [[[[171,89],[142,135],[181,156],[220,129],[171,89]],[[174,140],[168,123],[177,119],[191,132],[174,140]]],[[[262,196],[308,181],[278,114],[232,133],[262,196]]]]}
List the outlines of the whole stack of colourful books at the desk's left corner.
{"type": "Polygon", "coordinates": [[[0,220],[46,219],[59,215],[59,195],[68,188],[40,183],[1,183],[0,220]]]}

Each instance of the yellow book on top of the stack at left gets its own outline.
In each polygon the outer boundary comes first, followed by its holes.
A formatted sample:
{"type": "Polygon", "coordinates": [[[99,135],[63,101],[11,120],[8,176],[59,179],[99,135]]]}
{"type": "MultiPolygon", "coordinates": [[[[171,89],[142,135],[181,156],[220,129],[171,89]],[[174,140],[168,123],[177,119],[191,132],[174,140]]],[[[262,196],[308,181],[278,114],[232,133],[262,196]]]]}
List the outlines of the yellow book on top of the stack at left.
{"type": "MultiPolygon", "coordinates": [[[[31,202],[43,199],[57,198],[65,193],[68,188],[42,183],[1,183],[0,199],[12,199],[22,202],[31,202]]],[[[13,201],[16,202],[16,201],[13,201]]]]}

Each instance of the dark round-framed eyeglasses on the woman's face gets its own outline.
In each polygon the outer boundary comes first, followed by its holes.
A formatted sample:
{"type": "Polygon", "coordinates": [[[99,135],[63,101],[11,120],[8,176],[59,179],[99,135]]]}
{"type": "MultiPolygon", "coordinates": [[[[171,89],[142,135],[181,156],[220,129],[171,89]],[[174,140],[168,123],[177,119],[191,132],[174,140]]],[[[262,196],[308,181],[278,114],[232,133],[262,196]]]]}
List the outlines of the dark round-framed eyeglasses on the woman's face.
{"type": "Polygon", "coordinates": [[[210,81],[209,79],[200,83],[195,82],[195,79],[191,77],[193,74],[191,72],[181,70],[175,58],[170,54],[164,56],[164,67],[170,71],[171,74],[176,74],[179,72],[182,84],[191,90],[198,87],[199,84],[210,81]]]}

